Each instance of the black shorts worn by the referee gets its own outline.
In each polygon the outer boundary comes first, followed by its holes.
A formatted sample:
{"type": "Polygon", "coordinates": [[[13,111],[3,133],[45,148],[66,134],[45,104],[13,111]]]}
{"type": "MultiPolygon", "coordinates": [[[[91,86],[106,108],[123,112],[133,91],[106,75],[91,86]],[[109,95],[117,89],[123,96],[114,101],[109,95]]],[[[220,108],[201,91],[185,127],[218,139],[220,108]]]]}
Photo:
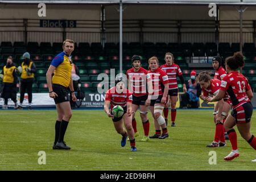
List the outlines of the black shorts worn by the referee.
{"type": "Polygon", "coordinates": [[[52,84],[52,90],[58,95],[58,97],[55,97],[54,99],[55,104],[69,102],[69,89],[67,87],[59,84],[52,84]]]}

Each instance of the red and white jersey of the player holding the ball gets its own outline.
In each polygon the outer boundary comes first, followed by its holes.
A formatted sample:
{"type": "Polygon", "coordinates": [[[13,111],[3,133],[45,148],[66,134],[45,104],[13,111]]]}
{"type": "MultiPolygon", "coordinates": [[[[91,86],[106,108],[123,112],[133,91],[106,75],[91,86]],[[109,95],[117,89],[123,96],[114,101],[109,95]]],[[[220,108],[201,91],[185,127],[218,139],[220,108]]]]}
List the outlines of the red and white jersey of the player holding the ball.
{"type": "Polygon", "coordinates": [[[122,107],[126,107],[127,102],[133,101],[133,96],[131,95],[128,89],[124,89],[122,93],[117,93],[115,90],[115,86],[106,92],[105,101],[110,101],[110,108],[112,109],[114,106],[119,105],[122,107]]]}

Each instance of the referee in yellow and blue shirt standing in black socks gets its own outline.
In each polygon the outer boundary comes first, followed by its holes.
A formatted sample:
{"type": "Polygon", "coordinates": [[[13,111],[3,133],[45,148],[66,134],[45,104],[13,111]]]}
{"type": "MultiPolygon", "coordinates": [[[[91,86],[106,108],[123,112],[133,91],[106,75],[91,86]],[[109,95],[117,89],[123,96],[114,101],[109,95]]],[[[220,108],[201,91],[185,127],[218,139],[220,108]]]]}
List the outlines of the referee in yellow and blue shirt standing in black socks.
{"type": "Polygon", "coordinates": [[[72,116],[69,104],[69,89],[72,93],[72,100],[76,101],[71,77],[72,60],[71,53],[74,50],[75,42],[66,39],[63,42],[63,52],[59,53],[52,60],[46,73],[46,80],[49,89],[49,97],[53,98],[57,109],[57,121],[55,123],[55,141],[52,149],[69,150],[71,147],[64,142],[65,131],[72,116]],[[53,77],[52,74],[54,73],[53,77]]]}

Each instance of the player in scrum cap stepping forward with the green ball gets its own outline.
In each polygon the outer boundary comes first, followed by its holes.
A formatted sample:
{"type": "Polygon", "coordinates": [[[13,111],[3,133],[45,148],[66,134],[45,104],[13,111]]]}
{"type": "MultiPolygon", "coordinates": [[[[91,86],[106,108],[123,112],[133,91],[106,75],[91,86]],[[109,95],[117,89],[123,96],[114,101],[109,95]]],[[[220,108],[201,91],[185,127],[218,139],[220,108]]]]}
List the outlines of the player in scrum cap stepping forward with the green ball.
{"type": "Polygon", "coordinates": [[[130,138],[131,151],[137,151],[135,146],[134,130],[131,124],[133,118],[133,111],[131,109],[132,95],[128,89],[125,88],[125,82],[122,77],[115,79],[115,86],[110,88],[106,92],[104,111],[108,117],[112,118],[115,130],[122,135],[121,146],[126,144],[127,135],[130,138]],[[112,109],[115,105],[122,106],[124,112],[119,118],[115,118],[112,114],[112,109]],[[111,110],[109,109],[109,106],[111,110]],[[126,131],[123,128],[123,122],[125,123],[126,131]]]}

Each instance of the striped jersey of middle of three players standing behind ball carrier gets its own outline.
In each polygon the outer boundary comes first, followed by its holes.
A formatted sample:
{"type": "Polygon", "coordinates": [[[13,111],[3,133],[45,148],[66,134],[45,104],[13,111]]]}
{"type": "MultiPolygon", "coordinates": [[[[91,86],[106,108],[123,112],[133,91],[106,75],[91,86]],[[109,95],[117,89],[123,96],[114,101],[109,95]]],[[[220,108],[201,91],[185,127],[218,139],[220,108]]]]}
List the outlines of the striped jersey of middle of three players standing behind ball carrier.
{"type": "Polygon", "coordinates": [[[163,95],[162,87],[164,84],[168,84],[168,76],[166,72],[158,68],[154,72],[148,70],[148,75],[151,77],[153,87],[152,89],[154,90],[152,96],[163,95]]]}

